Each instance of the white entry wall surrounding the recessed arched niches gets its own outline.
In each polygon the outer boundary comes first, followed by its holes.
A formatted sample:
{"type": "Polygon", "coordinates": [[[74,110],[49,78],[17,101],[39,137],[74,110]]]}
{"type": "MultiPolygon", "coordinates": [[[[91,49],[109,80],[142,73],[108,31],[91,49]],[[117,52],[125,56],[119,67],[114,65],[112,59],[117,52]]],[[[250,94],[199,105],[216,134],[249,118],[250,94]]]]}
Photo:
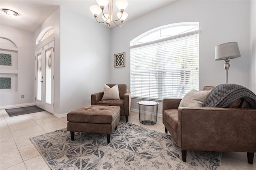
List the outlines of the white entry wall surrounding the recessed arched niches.
{"type": "MultiPolygon", "coordinates": [[[[18,50],[18,88],[16,93],[0,94],[0,106],[13,107],[24,103],[34,102],[34,47],[33,33],[0,25],[0,36],[12,40],[18,50]],[[21,95],[25,95],[22,99],[21,95]]],[[[3,47],[0,44],[1,47],[3,47]]]]}

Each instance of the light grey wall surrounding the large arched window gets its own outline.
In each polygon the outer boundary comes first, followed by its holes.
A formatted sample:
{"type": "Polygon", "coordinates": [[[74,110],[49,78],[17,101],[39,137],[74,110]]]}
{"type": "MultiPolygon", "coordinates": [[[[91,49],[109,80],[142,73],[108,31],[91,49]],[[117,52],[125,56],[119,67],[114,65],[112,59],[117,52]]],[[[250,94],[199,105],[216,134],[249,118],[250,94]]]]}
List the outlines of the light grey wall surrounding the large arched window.
{"type": "MultiPolygon", "coordinates": [[[[153,28],[177,22],[200,23],[200,89],[225,83],[224,61],[214,61],[215,46],[238,42],[242,57],[230,60],[228,83],[250,88],[250,1],[176,1],[111,29],[110,60],[126,52],[126,66],[110,67],[111,82],[130,89],[130,41],[153,28]]],[[[162,103],[159,105],[161,113],[162,103]]],[[[132,99],[132,109],[138,109],[132,99]]]]}

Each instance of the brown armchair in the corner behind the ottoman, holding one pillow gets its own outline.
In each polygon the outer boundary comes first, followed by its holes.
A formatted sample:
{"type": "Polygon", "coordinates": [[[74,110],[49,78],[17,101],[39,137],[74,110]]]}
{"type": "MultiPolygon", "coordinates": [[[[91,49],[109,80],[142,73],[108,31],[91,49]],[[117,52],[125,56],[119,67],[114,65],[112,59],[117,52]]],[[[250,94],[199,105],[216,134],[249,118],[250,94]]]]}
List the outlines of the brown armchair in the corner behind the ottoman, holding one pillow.
{"type": "MultiPolygon", "coordinates": [[[[115,84],[108,84],[111,88],[115,84]]],[[[118,85],[120,100],[102,100],[104,91],[94,93],[91,95],[91,105],[107,105],[107,106],[120,106],[120,116],[125,116],[126,122],[128,122],[128,116],[130,115],[132,94],[127,91],[127,85],[118,85]]]]}

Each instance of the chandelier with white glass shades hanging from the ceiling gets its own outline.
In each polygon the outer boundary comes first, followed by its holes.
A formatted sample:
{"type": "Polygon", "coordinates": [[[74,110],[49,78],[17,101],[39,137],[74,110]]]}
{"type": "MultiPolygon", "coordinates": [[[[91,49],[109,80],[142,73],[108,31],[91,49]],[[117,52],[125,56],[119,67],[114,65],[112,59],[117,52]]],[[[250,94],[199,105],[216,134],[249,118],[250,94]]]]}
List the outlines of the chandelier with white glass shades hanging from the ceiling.
{"type": "Polygon", "coordinates": [[[116,26],[121,27],[124,23],[124,20],[127,18],[128,14],[124,12],[128,6],[127,0],[116,0],[116,7],[119,9],[119,12],[116,14],[117,19],[113,16],[113,0],[96,0],[98,5],[90,6],[90,11],[94,15],[95,19],[99,23],[106,23],[108,28],[110,27],[111,21],[113,21],[116,26]],[[104,14],[104,9],[108,5],[108,13],[104,14]],[[99,14],[102,12],[103,21],[98,20],[99,14]],[[120,24],[118,25],[118,23],[120,24]]]}

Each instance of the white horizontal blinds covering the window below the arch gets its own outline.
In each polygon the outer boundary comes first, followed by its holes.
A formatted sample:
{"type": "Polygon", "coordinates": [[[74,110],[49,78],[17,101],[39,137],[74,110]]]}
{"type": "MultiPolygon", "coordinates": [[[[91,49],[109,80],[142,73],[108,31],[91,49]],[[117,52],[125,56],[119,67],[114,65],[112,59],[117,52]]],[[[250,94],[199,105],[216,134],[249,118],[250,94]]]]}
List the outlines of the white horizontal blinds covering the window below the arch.
{"type": "Polygon", "coordinates": [[[199,30],[131,46],[132,97],[182,98],[199,90],[199,30]]]}

